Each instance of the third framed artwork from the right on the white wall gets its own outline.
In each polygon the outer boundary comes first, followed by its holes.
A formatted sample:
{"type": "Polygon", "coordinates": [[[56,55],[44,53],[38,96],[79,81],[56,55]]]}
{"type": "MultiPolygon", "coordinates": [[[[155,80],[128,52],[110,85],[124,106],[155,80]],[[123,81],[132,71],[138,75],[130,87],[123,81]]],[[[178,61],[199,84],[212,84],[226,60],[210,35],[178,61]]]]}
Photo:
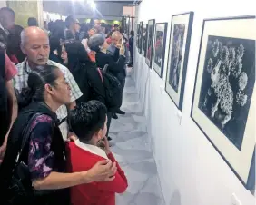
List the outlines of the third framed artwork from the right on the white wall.
{"type": "Polygon", "coordinates": [[[162,78],[166,44],[167,23],[155,24],[153,42],[153,69],[162,78]]]}

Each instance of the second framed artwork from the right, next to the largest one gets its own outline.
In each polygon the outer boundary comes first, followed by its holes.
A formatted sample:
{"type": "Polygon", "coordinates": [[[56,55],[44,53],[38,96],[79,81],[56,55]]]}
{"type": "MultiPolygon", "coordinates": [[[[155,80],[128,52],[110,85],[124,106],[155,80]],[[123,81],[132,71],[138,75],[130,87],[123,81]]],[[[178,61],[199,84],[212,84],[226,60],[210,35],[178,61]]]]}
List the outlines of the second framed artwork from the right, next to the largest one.
{"type": "Polygon", "coordinates": [[[192,20],[193,12],[172,15],[165,91],[181,111],[191,44],[192,20]]]}

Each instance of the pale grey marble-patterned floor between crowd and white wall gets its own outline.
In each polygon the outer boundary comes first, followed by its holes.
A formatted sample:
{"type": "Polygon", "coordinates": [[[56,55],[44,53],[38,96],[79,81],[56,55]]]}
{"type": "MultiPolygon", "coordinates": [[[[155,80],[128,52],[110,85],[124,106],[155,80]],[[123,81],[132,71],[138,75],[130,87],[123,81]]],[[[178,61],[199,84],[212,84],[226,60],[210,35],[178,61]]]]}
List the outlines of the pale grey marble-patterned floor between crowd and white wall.
{"type": "Polygon", "coordinates": [[[113,138],[112,151],[125,172],[129,187],[116,196],[116,204],[164,205],[145,120],[130,77],[126,79],[122,110],[126,114],[112,121],[110,136],[113,138]]]}

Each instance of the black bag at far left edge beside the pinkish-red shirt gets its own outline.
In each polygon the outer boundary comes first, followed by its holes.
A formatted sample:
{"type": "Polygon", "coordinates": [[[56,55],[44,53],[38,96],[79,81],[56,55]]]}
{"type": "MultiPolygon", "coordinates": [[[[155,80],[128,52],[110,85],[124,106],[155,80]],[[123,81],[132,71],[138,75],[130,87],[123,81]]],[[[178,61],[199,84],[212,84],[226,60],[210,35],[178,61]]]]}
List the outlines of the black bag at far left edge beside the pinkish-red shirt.
{"type": "Polygon", "coordinates": [[[10,126],[8,110],[8,95],[5,86],[5,50],[0,48],[0,146],[5,141],[5,134],[10,126]]]}

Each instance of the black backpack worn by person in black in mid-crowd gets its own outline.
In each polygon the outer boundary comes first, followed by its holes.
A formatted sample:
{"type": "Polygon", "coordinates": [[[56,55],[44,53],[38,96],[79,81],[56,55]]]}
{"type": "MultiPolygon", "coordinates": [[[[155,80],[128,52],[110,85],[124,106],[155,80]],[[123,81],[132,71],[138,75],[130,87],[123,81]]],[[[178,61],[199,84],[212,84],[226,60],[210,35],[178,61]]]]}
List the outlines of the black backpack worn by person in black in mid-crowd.
{"type": "Polygon", "coordinates": [[[122,86],[118,79],[108,72],[108,64],[106,64],[101,71],[103,74],[103,85],[106,95],[107,108],[118,109],[122,105],[122,86]]]}

